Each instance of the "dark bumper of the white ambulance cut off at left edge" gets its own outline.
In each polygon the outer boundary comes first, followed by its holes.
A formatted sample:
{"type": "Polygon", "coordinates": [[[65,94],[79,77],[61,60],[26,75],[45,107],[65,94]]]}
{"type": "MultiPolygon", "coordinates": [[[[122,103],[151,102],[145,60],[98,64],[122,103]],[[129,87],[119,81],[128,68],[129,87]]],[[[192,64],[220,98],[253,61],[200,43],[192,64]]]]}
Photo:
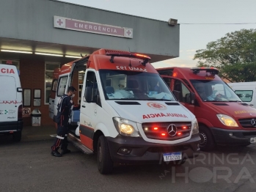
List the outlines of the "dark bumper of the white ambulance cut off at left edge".
{"type": "Polygon", "coordinates": [[[10,133],[12,131],[21,131],[23,129],[23,119],[14,122],[0,122],[0,134],[10,133]]]}

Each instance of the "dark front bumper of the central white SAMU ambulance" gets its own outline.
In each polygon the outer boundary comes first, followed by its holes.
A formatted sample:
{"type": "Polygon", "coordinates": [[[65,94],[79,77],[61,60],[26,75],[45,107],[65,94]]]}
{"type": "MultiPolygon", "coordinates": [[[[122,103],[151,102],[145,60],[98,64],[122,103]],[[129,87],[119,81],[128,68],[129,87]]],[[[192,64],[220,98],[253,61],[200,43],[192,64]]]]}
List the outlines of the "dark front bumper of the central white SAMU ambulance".
{"type": "Polygon", "coordinates": [[[181,152],[183,158],[195,158],[198,155],[200,136],[195,134],[191,139],[178,144],[155,144],[142,138],[127,136],[107,137],[111,159],[114,163],[162,163],[163,154],[181,152]]]}

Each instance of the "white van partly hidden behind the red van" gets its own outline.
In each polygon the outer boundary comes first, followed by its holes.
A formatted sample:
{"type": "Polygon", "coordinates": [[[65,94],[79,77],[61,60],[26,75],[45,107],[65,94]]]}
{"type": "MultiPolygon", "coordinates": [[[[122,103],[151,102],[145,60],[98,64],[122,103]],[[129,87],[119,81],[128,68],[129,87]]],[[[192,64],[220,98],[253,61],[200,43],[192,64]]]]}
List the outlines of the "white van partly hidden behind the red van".
{"type": "Polygon", "coordinates": [[[229,83],[228,85],[243,102],[256,108],[256,82],[229,83]]]}

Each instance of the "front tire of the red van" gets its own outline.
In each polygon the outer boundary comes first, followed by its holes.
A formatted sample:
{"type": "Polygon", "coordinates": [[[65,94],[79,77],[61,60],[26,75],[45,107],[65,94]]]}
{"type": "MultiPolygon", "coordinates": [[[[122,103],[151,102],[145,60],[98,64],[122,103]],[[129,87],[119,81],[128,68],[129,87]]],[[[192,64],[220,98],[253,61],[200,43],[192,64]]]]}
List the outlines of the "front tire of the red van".
{"type": "Polygon", "coordinates": [[[213,139],[213,135],[211,134],[211,131],[209,128],[200,125],[199,128],[199,133],[200,133],[200,149],[202,151],[211,151],[216,147],[215,141],[213,139]]]}

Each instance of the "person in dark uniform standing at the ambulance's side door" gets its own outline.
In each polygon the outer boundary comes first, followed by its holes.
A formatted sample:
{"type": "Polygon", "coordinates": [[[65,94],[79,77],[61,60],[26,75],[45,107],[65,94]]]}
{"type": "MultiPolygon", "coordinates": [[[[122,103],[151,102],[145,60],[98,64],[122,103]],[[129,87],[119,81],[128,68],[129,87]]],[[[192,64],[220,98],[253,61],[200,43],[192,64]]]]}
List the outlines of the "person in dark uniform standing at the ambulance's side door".
{"type": "Polygon", "coordinates": [[[58,103],[56,123],[57,136],[54,142],[54,145],[51,147],[51,155],[55,157],[61,157],[62,155],[70,152],[67,149],[67,132],[68,132],[68,119],[70,116],[70,108],[73,106],[72,97],[75,96],[74,92],[76,89],[73,86],[68,87],[67,94],[63,95],[58,103]],[[62,152],[59,153],[58,149],[61,146],[62,152]]]}

